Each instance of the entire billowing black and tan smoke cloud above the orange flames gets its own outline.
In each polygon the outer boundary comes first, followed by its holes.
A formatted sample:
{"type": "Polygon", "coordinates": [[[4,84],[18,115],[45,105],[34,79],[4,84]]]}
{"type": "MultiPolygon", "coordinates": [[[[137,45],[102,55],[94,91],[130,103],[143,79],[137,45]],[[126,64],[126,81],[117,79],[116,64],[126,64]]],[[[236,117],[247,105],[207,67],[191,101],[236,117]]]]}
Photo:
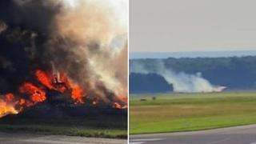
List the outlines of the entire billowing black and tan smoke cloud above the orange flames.
{"type": "Polygon", "coordinates": [[[14,105],[19,98],[33,101],[21,90],[24,82],[57,89],[46,78],[62,75],[63,79],[64,74],[73,85],[70,89],[78,87],[82,97],[121,101],[118,105],[123,106],[127,9],[126,0],[0,1],[0,94],[14,94],[14,100],[1,103],[14,105]],[[36,80],[35,74],[48,76],[36,80]]]}

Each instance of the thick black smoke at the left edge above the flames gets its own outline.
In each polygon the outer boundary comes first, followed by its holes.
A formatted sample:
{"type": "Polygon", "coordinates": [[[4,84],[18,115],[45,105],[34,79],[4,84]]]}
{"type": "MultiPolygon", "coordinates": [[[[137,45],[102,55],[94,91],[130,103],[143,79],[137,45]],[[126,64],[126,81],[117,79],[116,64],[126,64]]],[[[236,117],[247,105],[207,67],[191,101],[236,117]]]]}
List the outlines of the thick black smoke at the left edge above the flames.
{"type": "MultiPolygon", "coordinates": [[[[37,1],[0,1],[0,93],[15,91],[42,63],[52,20],[60,6],[37,1]]],[[[47,66],[47,65],[46,65],[47,66]]]]}

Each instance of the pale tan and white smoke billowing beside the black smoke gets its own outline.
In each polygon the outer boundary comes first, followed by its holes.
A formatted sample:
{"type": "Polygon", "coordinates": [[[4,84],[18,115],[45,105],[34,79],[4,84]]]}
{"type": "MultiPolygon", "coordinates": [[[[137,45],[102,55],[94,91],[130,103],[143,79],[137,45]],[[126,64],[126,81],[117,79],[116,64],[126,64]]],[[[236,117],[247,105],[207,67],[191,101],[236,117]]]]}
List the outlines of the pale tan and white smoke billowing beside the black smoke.
{"type": "Polygon", "coordinates": [[[63,2],[66,3],[66,7],[55,17],[56,34],[75,43],[71,44],[74,46],[74,59],[87,62],[87,66],[76,71],[79,77],[76,80],[83,86],[89,82],[95,91],[98,89],[98,82],[102,82],[107,90],[127,96],[128,1],[63,2]],[[85,73],[89,75],[90,81],[82,80],[85,73]]]}

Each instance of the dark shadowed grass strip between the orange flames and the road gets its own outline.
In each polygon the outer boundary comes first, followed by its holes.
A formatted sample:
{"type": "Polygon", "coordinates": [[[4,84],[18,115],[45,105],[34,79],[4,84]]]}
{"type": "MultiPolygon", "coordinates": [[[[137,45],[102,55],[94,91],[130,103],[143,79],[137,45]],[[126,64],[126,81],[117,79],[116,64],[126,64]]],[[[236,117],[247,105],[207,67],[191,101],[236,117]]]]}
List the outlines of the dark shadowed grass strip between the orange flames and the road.
{"type": "Polygon", "coordinates": [[[118,115],[70,119],[1,119],[0,131],[127,138],[126,117],[118,115]]]}

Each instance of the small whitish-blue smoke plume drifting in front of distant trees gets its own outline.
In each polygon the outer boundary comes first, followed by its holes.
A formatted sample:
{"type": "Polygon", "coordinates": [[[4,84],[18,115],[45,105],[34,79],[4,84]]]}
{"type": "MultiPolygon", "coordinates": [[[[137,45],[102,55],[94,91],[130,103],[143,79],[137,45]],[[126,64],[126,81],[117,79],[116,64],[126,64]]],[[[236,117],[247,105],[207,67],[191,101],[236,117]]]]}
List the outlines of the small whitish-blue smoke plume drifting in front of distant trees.
{"type": "Polygon", "coordinates": [[[144,63],[133,62],[130,66],[130,72],[162,75],[167,82],[173,85],[174,92],[220,92],[226,88],[225,86],[213,86],[205,78],[202,78],[201,73],[186,74],[184,72],[174,72],[166,68],[161,60],[155,61],[150,66],[150,69],[147,69],[144,63]]]}

